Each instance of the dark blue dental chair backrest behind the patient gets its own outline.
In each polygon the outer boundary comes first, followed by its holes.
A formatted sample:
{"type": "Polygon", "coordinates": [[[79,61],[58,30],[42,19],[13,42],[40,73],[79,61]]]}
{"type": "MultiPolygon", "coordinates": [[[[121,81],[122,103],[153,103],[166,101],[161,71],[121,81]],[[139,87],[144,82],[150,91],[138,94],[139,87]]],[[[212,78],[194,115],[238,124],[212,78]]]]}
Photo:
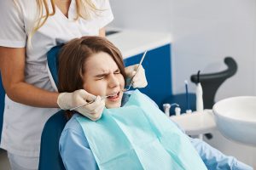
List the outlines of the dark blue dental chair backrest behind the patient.
{"type": "MultiPolygon", "coordinates": [[[[62,45],[56,46],[47,54],[49,71],[55,84],[58,82],[58,54],[61,47],[62,45]]],[[[66,123],[64,111],[58,111],[45,123],[41,136],[39,170],[65,170],[59,153],[59,139],[66,123]]]]}

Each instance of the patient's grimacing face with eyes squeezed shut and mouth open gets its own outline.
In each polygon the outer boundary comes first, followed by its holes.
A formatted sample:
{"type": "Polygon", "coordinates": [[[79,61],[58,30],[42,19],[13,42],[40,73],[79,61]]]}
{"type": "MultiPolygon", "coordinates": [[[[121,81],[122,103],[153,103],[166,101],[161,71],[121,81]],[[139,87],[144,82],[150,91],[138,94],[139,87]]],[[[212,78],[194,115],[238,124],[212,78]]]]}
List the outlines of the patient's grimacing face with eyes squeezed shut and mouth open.
{"type": "Polygon", "coordinates": [[[84,90],[100,96],[116,93],[115,96],[105,99],[106,107],[120,107],[123,97],[120,90],[124,89],[125,79],[112,57],[105,52],[93,54],[86,60],[85,68],[84,90]]]}

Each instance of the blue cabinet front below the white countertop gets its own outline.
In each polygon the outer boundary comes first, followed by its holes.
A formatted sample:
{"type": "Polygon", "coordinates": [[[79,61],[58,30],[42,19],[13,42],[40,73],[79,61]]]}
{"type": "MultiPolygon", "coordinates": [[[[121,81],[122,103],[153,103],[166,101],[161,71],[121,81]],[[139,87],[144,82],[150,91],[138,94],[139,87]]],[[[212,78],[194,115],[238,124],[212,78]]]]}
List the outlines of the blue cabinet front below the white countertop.
{"type": "MultiPolygon", "coordinates": [[[[143,54],[137,54],[125,59],[125,66],[138,64],[143,54]]],[[[148,86],[139,89],[147,94],[162,109],[163,100],[172,94],[171,44],[154,48],[145,56],[145,69],[148,86]]]]}

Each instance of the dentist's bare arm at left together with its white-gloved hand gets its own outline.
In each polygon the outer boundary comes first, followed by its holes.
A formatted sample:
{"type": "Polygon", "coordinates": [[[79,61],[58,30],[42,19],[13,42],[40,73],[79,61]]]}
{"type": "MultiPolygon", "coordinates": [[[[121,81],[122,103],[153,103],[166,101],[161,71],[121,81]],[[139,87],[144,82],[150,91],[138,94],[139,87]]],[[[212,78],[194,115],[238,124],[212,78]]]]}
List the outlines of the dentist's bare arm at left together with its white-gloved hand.
{"type": "MultiPolygon", "coordinates": [[[[60,107],[69,110],[78,105],[84,105],[87,100],[96,96],[85,90],[73,93],[49,92],[25,82],[25,48],[0,47],[0,69],[3,88],[10,99],[23,105],[34,107],[60,107]]],[[[96,102],[77,109],[84,116],[95,121],[102,116],[105,103],[100,99],[96,102]]]]}

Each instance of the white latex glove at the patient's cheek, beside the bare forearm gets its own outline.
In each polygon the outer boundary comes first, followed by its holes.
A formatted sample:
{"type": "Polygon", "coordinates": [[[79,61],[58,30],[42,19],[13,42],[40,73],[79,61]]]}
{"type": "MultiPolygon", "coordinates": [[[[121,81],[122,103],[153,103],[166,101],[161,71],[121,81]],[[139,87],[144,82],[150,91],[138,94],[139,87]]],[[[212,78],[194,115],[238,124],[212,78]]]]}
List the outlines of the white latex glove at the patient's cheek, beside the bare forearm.
{"type": "Polygon", "coordinates": [[[70,110],[76,106],[84,105],[79,107],[75,111],[79,111],[84,116],[87,116],[92,121],[96,121],[102,117],[102,111],[105,106],[105,100],[100,96],[89,94],[84,89],[79,89],[73,93],[61,93],[58,96],[57,104],[62,110],[70,110]],[[89,105],[87,101],[95,100],[89,105]]]}

